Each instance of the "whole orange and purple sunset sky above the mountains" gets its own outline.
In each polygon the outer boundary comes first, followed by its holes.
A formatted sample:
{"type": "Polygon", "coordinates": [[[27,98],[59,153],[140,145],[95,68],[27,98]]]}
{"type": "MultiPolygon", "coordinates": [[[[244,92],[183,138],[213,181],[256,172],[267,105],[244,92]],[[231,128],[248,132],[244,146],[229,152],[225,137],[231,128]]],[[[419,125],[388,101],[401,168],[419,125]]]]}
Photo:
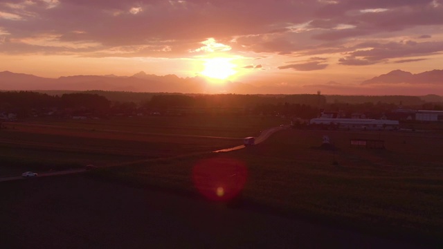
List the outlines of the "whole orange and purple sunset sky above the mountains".
{"type": "Polygon", "coordinates": [[[443,0],[0,0],[0,71],[40,77],[145,71],[404,94],[442,86],[360,84],[442,65],[443,0]]]}

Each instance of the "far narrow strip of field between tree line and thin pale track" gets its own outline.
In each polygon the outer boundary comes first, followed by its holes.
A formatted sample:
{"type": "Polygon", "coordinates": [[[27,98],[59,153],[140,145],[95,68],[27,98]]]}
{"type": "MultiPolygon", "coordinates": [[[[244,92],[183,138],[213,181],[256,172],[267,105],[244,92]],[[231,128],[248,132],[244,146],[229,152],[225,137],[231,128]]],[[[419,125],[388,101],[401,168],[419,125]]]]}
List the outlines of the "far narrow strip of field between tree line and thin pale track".
{"type": "MultiPolygon", "coordinates": [[[[145,116],[111,118],[109,120],[57,120],[30,119],[31,124],[55,126],[58,129],[120,131],[131,133],[159,133],[190,136],[222,136],[242,138],[255,136],[262,129],[275,127],[282,122],[278,117],[260,116],[145,116]]],[[[16,124],[19,126],[19,124],[16,124]]],[[[23,126],[24,124],[21,124],[23,126]]]]}

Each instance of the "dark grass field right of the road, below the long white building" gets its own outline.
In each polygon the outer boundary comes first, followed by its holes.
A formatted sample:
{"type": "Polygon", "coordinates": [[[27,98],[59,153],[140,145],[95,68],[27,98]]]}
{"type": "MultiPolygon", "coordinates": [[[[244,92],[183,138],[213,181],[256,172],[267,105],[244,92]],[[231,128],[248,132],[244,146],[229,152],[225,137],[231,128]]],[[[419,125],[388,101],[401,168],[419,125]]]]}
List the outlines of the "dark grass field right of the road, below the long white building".
{"type": "Polygon", "coordinates": [[[443,235],[441,145],[442,137],[429,133],[288,129],[227,154],[151,160],[98,174],[196,194],[195,165],[201,160],[236,160],[248,171],[244,200],[379,234],[435,239],[443,235]],[[336,151],[318,148],[325,135],[336,151]],[[350,138],[385,140],[386,149],[351,148],[350,138]]]}

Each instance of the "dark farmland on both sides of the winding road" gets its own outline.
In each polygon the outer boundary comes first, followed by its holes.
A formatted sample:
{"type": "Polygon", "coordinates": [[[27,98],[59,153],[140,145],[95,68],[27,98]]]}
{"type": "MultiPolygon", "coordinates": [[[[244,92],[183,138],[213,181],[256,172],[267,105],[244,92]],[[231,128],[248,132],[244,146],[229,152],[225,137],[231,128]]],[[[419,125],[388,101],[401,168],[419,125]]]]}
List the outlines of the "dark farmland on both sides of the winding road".
{"type": "Polygon", "coordinates": [[[0,156],[10,167],[1,170],[120,165],[90,174],[110,183],[200,196],[196,165],[243,165],[244,208],[397,239],[414,234],[414,239],[432,241],[443,234],[443,136],[432,131],[284,129],[254,147],[208,153],[288,122],[276,117],[154,117],[7,123],[0,131],[0,156]],[[323,136],[336,149],[322,149],[323,136]],[[383,140],[386,149],[352,148],[354,138],[383,140]]]}

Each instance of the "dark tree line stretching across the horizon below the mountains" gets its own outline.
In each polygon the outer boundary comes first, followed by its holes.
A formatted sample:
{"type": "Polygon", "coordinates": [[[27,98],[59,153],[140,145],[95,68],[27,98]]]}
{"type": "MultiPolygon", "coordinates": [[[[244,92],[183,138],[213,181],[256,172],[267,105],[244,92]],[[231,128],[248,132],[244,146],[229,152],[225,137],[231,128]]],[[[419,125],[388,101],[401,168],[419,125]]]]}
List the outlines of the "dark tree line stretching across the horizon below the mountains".
{"type": "MultiPolygon", "coordinates": [[[[34,112],[55,111],[71,115],[89,113],[94,116],[104,116],[112,113],[134,115],[145,111],[167,113],[169,109],[241,109],[242,114],[288,116],[298,118],[315,118],[320,110],[341,112],[343,116],[350,117],[352,113],[364,113],[367,118],[381,118],[390,116],[395,109],[426,109],[442,110],[442,102],[424,102],[414,96],[395,96],[395,98],[375,98],[378,102],[341,102],[334,96],[334,102],[327,102],[330,96],[325,95],[237,95],[218,94],[186,95],[180,93],[136,93],[137,98],[129,98],[132,93],[121,92],[125,98],[109,100],[104,91],[85,91],[80,93],[63,93],[51,95],[32,91],[0,92],[0,113],[17,113],[19,118],[26,118],[34,112]],[[144,98],[141,98],[143,97],[144,98]],[[126,99],[128,98],[128,99],[126,99]],[[386,100],[382,102],[381,100],[386,100]],[[395,103],[394,101],[398,101],[395,103]],[[64,111],[64,112],[62,112],[64,111]]],[[[118,95],[119,92],[109,92],[118,95]]],[[[345,96],[344,99],[348,97],[345,96]]],[[[357,98],[352,96],[352,99],[357,98]]],[[[368,100],[368,96],[361,96],[368,100]]],[[[204,113],[200,111],[199,113],[204,113]]]]}

